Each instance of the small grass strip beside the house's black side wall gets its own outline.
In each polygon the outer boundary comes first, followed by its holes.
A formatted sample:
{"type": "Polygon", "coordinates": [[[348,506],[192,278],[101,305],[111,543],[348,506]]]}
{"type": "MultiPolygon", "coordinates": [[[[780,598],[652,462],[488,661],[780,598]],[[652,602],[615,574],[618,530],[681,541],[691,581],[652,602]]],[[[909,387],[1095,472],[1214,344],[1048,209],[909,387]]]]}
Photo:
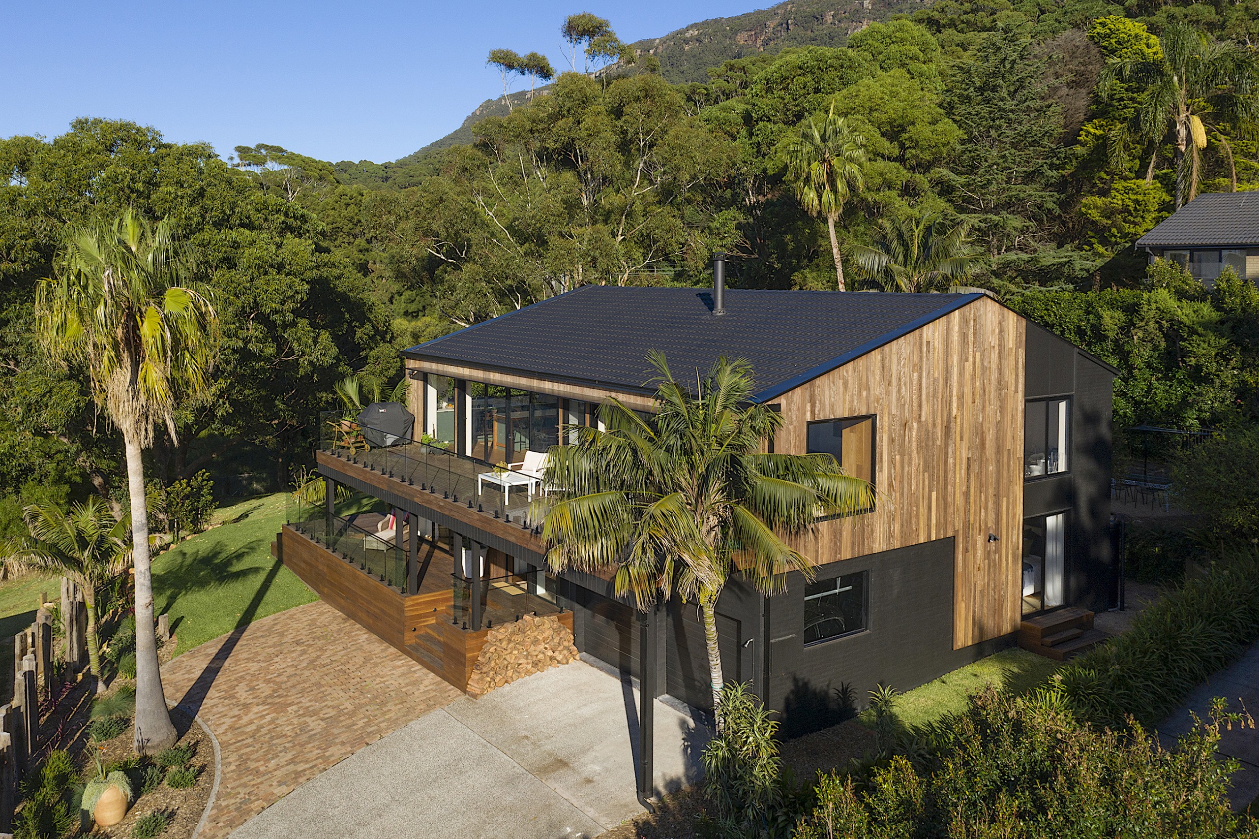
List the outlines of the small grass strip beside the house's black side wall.
{"type": "MultiPolygon", "coordinates": [[[[1011,693],[1027,693],[1044,684],[1058,666],[1058,661],[1027,650],[1002,650],[906,692],[896,699],[895,713],[904,726],[932,723],[964,709],[967,694],[986,684],[1011,693]]],[[[870,712],[864,712],[860,719],[869,723],[870,712]]]]}

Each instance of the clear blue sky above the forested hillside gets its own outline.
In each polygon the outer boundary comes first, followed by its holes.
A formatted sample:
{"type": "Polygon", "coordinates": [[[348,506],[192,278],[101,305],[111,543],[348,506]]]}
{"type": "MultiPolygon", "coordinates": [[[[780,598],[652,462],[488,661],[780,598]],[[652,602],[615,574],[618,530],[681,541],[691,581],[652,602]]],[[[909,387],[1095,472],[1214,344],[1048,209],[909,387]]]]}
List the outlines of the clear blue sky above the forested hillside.
{"type": "MultiPolygon", "coordinates": [[[[152,125],[220,156],[272,142],[325,160],[395,160],[499,93],[496,47],[545,53],[574,11],[626,42],[773,0],[636,3],[3,4],[0,136],[63,134],[78,116],[152,125]]],[[[517,86],[519,87],[519,86],[517,86]]]]}

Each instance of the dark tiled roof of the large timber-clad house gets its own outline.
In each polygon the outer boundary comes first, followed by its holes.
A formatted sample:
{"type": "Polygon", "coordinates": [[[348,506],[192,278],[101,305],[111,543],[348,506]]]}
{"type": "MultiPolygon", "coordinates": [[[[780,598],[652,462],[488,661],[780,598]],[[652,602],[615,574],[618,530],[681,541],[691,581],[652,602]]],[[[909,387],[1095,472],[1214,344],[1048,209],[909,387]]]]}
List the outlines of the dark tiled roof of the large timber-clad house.
{"type": "Polygon", "coordinates": [[[763,402],[982,296],[729,290],[718,316],[708,290],[583,286],[403,355],[642,393],[648,350],[679,379],[744,358],[763,402]]]}

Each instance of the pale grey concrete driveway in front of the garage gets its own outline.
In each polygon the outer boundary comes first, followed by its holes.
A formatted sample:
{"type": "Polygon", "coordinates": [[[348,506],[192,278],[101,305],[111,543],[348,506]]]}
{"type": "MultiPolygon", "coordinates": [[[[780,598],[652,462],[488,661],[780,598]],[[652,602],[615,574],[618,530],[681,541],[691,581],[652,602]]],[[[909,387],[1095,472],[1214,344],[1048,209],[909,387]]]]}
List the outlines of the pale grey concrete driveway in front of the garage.
{"type": "MultiPolygon", "coordinates": [[[[233,839],[593,838],[640,813],[637,693],[585,663],[456,699],[277,801],[233,839]]],[[[708,734],[656,702],[655,784],[699,777],[708,734]]],[[[313,739],[319,731],[310,732],[313,739]]]]}

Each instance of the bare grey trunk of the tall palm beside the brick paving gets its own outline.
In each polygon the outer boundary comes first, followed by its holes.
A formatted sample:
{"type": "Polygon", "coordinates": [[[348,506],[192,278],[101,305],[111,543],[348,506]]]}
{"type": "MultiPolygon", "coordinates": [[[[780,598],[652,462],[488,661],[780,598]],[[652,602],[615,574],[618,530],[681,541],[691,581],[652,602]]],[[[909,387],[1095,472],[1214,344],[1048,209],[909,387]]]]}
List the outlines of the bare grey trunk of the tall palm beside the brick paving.
{"type": "Polygon", "coordinates": [[[135,423],[125,423],[127,488],[131,491],[131,557],[136,569],[136,731],[137,755],[156,755],[175,745],[179,736],[170,723],[166,694],[157,665],[154,635],[154,579],[149,564],[149,510],[145,506],[145,465],[135,423]]]}

